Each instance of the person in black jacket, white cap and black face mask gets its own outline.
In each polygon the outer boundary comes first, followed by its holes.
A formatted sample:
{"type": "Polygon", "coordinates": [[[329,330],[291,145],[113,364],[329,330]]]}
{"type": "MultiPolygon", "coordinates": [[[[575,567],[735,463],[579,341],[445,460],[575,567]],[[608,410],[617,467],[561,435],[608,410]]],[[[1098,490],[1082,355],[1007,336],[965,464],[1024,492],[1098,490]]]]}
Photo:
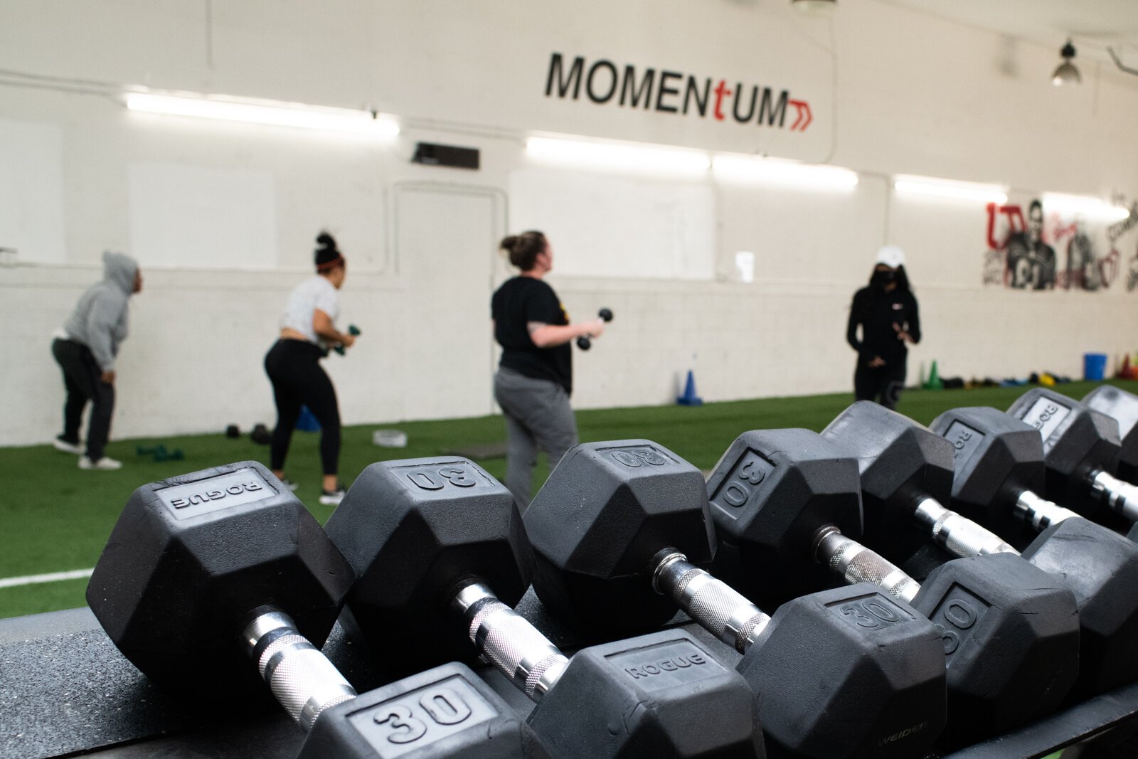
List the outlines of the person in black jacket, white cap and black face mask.
{"type": "Polygon", "coordinates": [[[917,299],[905,273],[905,253],[897,246],[877,251],[869,286],[853,294],[846,340],[857,350],[853,395],[896,409],[905,387],[906,344],[921,341],[917,299]]]}

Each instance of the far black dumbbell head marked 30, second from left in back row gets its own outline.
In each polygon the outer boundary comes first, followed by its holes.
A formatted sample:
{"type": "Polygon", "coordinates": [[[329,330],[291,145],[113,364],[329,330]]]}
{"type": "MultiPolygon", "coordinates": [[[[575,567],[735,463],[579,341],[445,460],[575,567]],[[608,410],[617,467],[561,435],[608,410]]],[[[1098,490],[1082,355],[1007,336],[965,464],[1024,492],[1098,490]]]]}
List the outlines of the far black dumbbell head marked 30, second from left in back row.
{"type": "Polygon", "coordinates": [[[513,496],[479,465],[436,456],[371,464],[324,526],[360,579],[348,608],[364,637],[407,670],[470,659],[448,604],[478,579],[514,605],[533,554],[513,496]]]}

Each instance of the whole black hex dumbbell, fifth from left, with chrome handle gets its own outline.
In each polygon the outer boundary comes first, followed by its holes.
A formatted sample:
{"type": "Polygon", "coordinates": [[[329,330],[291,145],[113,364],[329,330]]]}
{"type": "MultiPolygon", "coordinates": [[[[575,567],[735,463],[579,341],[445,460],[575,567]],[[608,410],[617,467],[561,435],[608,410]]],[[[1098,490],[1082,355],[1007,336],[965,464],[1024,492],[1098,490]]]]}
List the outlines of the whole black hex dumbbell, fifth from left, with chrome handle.
{"type": "MultiPolygon", "coordinates": [[[[887,558],[898,562],[909,559],[912,550],[905,551],[913,545],[913,535],[932,539],[955,556],[1019,553],[998,535],[943,505],[950,503],[954,486],[955,447],[950,442],[869,402],[855,403],[822,435],[858,459],[863,496],[866,469],[879,472],[876,497],[865,497],[863,506],[867,523],[874,504],[884,512],[877,514],[876,523],[892,527],[882,531],[876,544],[887,558]],[[912,446],[913,440],[920,440],[920,446],[912,446]],[[914,457],[914,451],[921,455],[914,457]]],[[[1122,588],[1132,588],[1138,581],[1138,568],[1127,541],[1110,541],[1111,547],[1104,551],[1099,533],[1086,520],[1065,520],[1036,538],[1023,554],[1074,593],[1079,603],[1079,678],[1071,698],[1133,679],[1128,673],[1138,660],[1138,635],[1131,633],[1138,599],[1122,595],[1130,593],[1122,588]]]]}

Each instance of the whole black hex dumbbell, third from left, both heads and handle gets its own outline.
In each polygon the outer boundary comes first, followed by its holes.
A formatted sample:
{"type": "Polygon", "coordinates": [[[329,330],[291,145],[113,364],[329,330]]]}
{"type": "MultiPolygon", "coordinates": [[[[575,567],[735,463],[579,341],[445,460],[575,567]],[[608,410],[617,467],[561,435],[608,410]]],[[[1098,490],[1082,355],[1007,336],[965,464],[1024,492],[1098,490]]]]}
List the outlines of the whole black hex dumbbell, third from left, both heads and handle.
{"type": "Polygon", "coordinates": [[[678,605],[742,653],[772,752],[922,756],[945,725],[940,633],[927,619],[868,584],[768,617],[694,566],[715,552],[703,475],[651,440],[570,448],[523,520],[534,589],[585,635],[648,629],[678,605]]]}

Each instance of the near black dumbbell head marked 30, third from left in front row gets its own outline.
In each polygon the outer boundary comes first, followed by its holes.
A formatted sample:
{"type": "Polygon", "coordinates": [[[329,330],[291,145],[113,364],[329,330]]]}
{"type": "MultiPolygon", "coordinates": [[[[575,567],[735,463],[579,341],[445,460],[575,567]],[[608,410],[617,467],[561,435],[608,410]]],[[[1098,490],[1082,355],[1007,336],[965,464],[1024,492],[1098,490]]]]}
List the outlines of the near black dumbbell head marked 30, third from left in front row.
{"type": "Polygon", "coordinates": [[[937,628],[866,583],[783,604],[737,669],[792,756],[920,757],[945,727],[937,628]]]}

